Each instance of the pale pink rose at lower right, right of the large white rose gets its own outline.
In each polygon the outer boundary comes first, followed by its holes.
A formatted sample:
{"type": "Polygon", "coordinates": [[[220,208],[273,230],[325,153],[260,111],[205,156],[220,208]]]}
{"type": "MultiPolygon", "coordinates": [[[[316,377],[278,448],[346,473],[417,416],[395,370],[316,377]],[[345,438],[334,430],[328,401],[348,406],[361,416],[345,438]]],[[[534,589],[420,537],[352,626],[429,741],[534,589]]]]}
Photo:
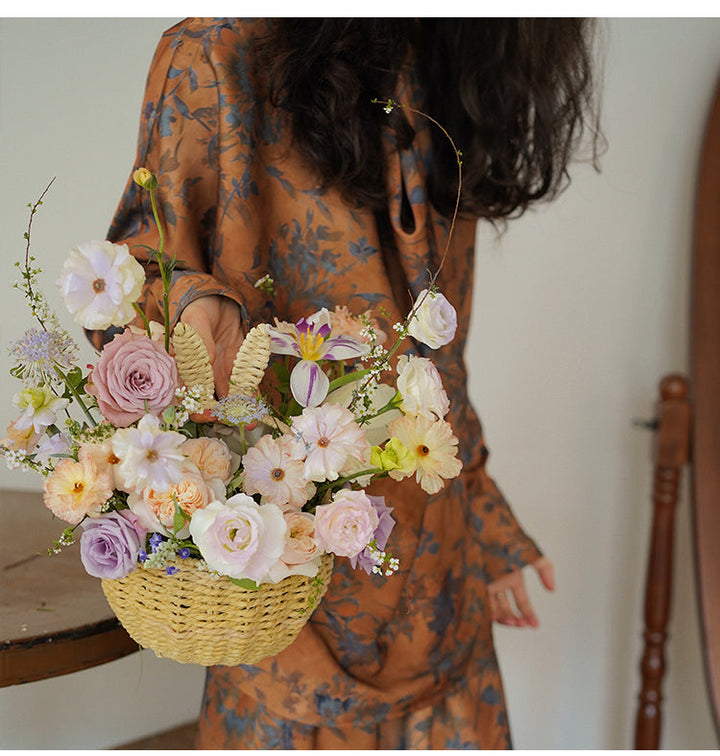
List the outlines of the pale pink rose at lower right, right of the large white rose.
{"type": "Polygon", "coordinates": [[[365,491],[338,491],[315,509],[315,540],[338,556],[357,556],[373,539],[378,515],[365,491]]]}

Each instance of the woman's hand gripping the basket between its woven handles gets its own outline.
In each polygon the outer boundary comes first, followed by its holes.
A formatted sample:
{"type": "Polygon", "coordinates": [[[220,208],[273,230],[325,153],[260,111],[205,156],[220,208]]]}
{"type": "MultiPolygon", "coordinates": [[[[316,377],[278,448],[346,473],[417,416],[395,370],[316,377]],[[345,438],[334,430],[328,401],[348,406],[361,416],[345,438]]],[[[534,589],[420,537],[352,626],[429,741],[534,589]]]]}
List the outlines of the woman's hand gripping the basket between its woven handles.
{"type": "Polygon", "coordinates": [[[215,376],[215,393],[218,398],[227,396],[235,355],[245,338],[239,305],[228,297],[200,297],[183,310],[180,320],[205,342],[215,376]]]}

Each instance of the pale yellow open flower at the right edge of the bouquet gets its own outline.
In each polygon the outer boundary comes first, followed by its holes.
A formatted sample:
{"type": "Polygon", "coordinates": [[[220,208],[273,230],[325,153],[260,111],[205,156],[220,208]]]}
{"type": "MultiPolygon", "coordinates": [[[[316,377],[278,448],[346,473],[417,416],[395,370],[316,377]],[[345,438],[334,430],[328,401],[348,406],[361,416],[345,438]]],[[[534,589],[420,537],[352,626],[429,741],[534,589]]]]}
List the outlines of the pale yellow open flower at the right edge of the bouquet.
{"type": "MultiPolygon", "coordinates": [[[[404,415],[393,420],[388,431],[412,455],[415,479],[426,493],[437,493],[445,485],[444,480],[460,474],[462,462],[457,458],[458,440],[444,420],[404,415]]],[[[395,480],[407,477],[401,470],[390,470],[388,474],[395,480]]]]}

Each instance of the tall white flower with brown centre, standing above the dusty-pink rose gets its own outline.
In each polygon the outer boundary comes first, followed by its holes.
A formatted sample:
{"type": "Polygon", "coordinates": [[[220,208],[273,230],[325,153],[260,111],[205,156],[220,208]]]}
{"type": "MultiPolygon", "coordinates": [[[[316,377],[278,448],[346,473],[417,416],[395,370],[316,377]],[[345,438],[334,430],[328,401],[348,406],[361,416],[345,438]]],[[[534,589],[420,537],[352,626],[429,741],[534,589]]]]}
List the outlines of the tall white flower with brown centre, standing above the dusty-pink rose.
{"type": "Polygon", "coordinates": [[[126,244],[91,241],[70,252],[57,285],[75,322],[93,330],[129,323],[144,281],[126,244]]]}

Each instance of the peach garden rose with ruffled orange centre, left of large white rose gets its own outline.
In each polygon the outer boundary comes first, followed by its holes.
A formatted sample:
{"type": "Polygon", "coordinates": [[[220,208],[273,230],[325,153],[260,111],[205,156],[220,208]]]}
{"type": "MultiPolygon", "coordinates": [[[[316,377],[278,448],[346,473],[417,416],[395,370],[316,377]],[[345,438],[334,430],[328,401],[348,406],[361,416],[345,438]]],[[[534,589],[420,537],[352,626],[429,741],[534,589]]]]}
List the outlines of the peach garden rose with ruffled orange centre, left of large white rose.
{"type": "MultiPolygon", "coordinates": [[[[193,512],[205,508],[211,501],[223,501],[224,498],[222,484],[212,485],[199,471],[188,469],[179,483],[164,491],[147,486],[141,494],[131,493],[128,506],[138,516],[144,528],[148,531],[162,532],[162,528],[173,530],[176,502],[185,514],[192,516],[193,512]]],[[[186,525],[177,535],[185,538],[188,533],[186,525]]]]}

